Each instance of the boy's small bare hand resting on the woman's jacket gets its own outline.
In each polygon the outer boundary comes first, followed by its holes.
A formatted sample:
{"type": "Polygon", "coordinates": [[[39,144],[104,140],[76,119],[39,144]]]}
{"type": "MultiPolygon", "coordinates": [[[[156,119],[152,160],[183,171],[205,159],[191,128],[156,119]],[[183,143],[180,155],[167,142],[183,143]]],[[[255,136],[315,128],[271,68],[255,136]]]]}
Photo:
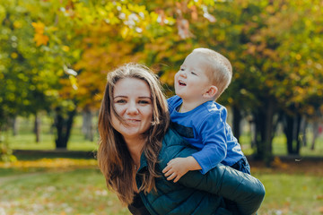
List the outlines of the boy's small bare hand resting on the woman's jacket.
{"type": "Polygon", "coordinates": [[[162,169],[162,173],[167,177],[167,180],[174,179],[174,183],[179,181],[181,176],[184,176],[190,170],[201,169],[196,159],[192,156],[187,158],[171,159],[167,167],[162,169]]]}

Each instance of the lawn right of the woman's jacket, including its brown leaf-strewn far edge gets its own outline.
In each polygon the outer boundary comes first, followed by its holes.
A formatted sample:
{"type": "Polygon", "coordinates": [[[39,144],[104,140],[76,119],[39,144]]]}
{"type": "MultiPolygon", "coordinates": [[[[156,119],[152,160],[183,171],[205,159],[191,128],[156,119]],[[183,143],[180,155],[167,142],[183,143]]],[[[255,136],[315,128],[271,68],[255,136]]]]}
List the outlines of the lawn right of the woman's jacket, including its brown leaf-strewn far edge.
{"type": "Polygon", "coordinates": [[[275,168],[250,163],[251,173],[266,187],[258,214],[323,214],[323,161],[276,161],[275,168]]]}

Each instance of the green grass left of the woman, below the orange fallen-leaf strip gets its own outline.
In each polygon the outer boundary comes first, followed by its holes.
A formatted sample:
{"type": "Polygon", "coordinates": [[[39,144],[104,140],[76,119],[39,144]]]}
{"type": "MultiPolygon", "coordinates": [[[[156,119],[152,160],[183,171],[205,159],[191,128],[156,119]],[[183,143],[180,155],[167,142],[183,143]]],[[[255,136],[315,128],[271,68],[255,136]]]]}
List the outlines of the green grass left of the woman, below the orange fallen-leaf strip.
{"type": "MultiPolygon", "coordinates": [[[[10,214],[129,214],[95,168],[2,176],[0,212],[10,214]],[[6,179],[8,178],[8,179],[6,179]]],[[[3,214],[3,213],[1,213],[3,214]]]]}

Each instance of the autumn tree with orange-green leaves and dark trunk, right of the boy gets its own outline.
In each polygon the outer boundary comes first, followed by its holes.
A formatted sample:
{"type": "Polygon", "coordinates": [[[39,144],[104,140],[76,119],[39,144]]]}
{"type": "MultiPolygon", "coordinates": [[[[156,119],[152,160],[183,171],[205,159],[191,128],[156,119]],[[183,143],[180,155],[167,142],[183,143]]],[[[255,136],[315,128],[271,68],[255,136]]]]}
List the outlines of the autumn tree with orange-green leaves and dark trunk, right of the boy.
{"type": "Polygon", "coordinates": [[[217,22],[208,26],[212,37],[201,38],[201,44],[212,44],[209,47],[220,50],[231,60],[234,74],[228,101],[233,108],[253,116],[257,154],[267,162],[272,157],[272,140],[280,116],[287,113],[310,116],[322,104],[319,4],[319,1],[217,4],[211,12],[217,22]]]}

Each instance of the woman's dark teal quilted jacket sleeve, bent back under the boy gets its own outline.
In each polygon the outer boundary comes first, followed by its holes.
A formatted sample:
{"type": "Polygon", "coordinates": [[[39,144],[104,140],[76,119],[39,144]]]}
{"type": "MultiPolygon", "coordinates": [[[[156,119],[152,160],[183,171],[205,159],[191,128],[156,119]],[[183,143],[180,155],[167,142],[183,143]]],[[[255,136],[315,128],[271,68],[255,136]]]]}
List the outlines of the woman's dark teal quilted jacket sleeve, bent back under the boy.
{"type": "MultiPolygon", "coordinates": [[[[163,151],[162,163],[165,166],[170,159],[185,158],[196,151],[188,147],[185,142],[183,143],[178,135],[178,133],[172,133],[171,142],[177,140],[177,143],[166,147],[163,151]]],[[[199,171],[189,171],[179,179],[178,183],[236,202],[242,215],[255,214],[265,197],[265,187],[256,177],[222,164],[211,169],[205,175],[199,171]]]]}

